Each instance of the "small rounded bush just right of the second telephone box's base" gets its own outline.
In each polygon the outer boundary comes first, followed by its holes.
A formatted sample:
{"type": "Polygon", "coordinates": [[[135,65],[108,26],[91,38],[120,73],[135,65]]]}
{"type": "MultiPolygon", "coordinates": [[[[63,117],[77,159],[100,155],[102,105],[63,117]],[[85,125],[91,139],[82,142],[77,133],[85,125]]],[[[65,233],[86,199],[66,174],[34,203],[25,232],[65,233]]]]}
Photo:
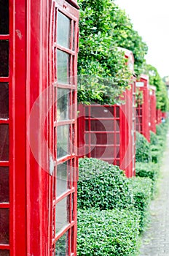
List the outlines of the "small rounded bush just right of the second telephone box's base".
{"type": "Polygon", "coordinates": [[[144,135],[141,135],[139,132],[136,132],[135,161],[136,162],[152,161],[149,142],[146,140],[144,135]]]}

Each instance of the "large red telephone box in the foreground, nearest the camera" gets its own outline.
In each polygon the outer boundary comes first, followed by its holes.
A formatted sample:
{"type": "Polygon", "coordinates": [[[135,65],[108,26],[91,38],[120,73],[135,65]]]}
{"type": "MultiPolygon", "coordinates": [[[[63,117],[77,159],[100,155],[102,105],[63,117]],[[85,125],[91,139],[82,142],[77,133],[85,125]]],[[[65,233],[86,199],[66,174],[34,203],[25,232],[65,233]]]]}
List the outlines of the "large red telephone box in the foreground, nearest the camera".
{"type": "Polygon", "coordinates": [[[0,255],[76,255],[79,7],[0,5],[0,255]]]}

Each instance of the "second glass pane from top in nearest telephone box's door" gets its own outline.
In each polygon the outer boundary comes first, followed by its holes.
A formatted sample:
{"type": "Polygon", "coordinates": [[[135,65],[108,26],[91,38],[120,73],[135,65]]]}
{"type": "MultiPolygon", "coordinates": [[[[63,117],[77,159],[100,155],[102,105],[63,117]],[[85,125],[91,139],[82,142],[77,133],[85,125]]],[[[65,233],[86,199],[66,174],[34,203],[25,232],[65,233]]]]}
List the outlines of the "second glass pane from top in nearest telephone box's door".
{"type": "Polygon", "coordinates": [[[57,50],[57,78],[58,83],[70,83],[70,56],[62,50],[57,50]]]}

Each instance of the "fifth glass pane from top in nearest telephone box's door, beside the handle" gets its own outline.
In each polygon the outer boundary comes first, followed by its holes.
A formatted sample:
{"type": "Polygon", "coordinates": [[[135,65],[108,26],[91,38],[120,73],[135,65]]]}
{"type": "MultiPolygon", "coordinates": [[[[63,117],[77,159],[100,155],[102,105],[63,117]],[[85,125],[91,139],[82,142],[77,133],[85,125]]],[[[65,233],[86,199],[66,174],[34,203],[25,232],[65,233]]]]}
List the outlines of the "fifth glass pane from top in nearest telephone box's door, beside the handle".
{"type": "Polygon", "coordinates": [[[57,166],[56,195],[59,197],[68,189],[69,161],[57,166]]]}

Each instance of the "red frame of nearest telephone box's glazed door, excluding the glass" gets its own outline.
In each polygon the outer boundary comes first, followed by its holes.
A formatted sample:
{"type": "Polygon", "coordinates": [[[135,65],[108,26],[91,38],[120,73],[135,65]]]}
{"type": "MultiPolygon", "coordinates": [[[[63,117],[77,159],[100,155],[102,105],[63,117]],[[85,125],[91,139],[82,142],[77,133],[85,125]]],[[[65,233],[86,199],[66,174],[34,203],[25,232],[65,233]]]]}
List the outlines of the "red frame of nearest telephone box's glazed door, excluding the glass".
{"type": "MultiPolygon", "coordinates": [[[[68,233],[68,256],[76,255],[76,200],[77,200],[77,189],[76,189],[76,183],[77,183],[77,172],[78,172],[78,163],[77,163],[77,152],[76,152],[76,75],[77,75],[77,50],[78,50],[78,17],[79,17],[79,11],[78,6],[76,3],[66,3],[66,1],[62,4],[60,1],[52,1],[52,23],[51,23],[51,29],[50,31],[55,31],[53,34],[56,35],[56,28],[58,26],[57,24],[57,15],[58,11],[60,11],[63,15],[66,15],[71,20],[71,44],[70,48],[65,48],[61,45],[58,45],[57,38],[53,37],[52,34],[50,34],[51,43],[50,45],[50,53],[51,55],[51,67],[50,67],[50,74],[52,74],[50,80],[53,84],[53,89],[51,89],[51,97],[53,104],[55,108],[52,108],[52,111],[50,113],[50,138],[49,138],[49,147],[52,154],[56,157],[55,159],[55,172],[50,177],[50,254],[54,255],[55,250],[57,250],[57,241],[66,233],[68,233]],[[74,8],[76,7],[76,8],[74,8]],[[75,37],[73,38],[73,29],[75,37]],[[73,45],[74,42],[74,45],[73,45]],[[54,50],[53,50],[54,49],[54,50]],[[64,53],[68,53],[70,56],[70,83],[64,84],[59,83],[56,77],[57,70],[55,67],[57,67],[57,57],[55,56],[56,50],[62,50],[64,53]],[[69,119],[65,121],[57,121],[56,119],[56,113],[57,113],[57,104],[54,104],[57,97],[57,90],[60,89],[69,89],[69,119]],[[66,154],[66,156],[61,157],[58,159],[56,152],[56,140],[55,138],[55,132],[57,131],[58,127],[62,127],[65,125],[69,125],[69,132],[70,132],[70,152],[66,154]],[[55,129],[55,132],[54,132],[55,129]],[[73,179],[70,181],[69,187],[62,195],[58,197],[56,192],[56,176],[57,176],[57,168],[58,165],[64,162],[69,162],[68,166],[70,168],[70,171],[73,172],[73,179]],[[54,187],[54,189],[53,189],[54,187]],[[69,208],[68,208],[68,225],[63,228],[63,230],[60,230],[59,233],[56,233],[56,208],[58,207],[58,203],[61,202],[64,198],[69,198],[69,208]],[[73,213],[73,215],[72,215],[73,213]]],[[[69,69],[69,67],[68,67],[69,69]]],[[[66,254],[67,255],[67,254],[66,254]]]]}

